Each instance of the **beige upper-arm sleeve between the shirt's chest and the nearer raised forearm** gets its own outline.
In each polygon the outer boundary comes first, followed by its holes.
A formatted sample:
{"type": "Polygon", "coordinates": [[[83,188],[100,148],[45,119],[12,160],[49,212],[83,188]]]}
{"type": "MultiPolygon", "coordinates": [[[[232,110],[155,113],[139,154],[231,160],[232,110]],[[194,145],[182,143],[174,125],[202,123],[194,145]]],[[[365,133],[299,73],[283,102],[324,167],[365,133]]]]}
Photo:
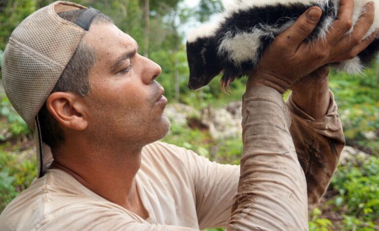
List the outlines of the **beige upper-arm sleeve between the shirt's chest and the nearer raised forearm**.
{"type": "Polygon", "coordinates": [[[184,150],[177,153],[193,180],[200,230],[225,227],[237,194],[239,166],[211,162],[191,150],[184,150]]]}

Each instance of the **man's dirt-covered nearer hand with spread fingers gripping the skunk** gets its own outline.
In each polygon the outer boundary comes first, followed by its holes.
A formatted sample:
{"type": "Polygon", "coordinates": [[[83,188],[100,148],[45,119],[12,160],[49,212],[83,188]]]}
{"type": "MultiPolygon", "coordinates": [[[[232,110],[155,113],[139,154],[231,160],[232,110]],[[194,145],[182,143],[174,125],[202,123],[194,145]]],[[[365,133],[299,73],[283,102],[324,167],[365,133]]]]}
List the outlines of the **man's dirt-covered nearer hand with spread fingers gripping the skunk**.
{"type": "Polygon", "coordinates": [[[354,58],[378,35],[378,30],[362,40],[374,21],[374,2],[365,5],[361,16],[351,33],[353,0],[341,0],[338,19],[330,27],[325,39],[306,43],[315,29],[321,9],[311,7],[266,49],[262,61],[250,75],[247,89],[253,86],[273,87],[283,93],[301,77],[324,64],[354,58]]]}

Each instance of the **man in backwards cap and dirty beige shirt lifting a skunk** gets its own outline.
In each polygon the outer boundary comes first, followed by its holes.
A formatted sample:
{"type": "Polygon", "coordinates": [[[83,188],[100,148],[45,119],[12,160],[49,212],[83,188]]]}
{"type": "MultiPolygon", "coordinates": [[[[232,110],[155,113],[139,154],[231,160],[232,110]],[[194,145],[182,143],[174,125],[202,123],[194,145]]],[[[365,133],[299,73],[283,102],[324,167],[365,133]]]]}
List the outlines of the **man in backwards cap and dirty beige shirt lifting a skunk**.
{"type": "Polygon", "coordinates": [[[160,67],[106,16],[68,2],[35,12],[12,33],[3,78],[37,129],[39,178],[2,212],[2,229],[307,230],[308,203],[325,192],[344,145],[321,66],[378,35],[362,40],[372,3],[345,35],[352,4],[341,1],[324,40],[302,42],[320,18],[312,7],[264,53],[244,95],[241,168],[156,142],[169,129],[160,67]]]}

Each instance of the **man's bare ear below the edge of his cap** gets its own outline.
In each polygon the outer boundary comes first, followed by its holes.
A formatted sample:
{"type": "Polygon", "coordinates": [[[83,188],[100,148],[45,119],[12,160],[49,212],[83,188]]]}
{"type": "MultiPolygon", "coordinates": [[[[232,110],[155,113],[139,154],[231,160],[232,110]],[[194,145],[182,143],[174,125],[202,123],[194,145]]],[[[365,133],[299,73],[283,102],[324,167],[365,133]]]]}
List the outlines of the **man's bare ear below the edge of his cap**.
{"type": "Polygon", "coordinates": [[[88,126],[85,103],[81,96],[72,92],[54,92],[46,100],[50,114],[63,127],[82,131],[88,126]]]}

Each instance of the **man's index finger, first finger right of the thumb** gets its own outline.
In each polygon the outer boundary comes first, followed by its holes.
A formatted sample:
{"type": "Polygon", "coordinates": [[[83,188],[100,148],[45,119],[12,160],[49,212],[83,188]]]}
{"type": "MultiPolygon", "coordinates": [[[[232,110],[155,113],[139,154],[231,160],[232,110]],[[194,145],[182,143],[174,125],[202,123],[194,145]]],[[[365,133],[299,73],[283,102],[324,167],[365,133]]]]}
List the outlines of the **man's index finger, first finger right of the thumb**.
{"type": "Polygon", "coordinates": [[[341,37],[351,29],[353,9],[353,0],[341,0],[341,6],[338,10],[338,18],[329,28],[328,34],[326,35],[326,41],[331,46],[336,44],[341,37]]]}

